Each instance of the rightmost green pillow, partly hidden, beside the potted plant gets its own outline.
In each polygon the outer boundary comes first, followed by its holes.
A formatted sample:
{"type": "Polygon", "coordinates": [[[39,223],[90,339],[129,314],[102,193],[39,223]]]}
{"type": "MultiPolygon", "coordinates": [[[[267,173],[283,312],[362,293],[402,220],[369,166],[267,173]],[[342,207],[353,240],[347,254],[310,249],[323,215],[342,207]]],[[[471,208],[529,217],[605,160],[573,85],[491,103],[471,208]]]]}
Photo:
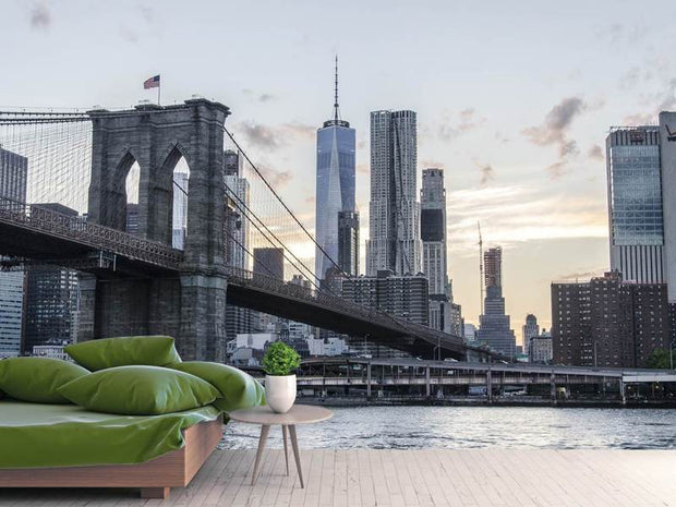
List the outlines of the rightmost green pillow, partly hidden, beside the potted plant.
{"type": "Polygon", "coordinates": [[[258,382],[233,366],[205,361],[186,361],[168,367],[191,373],[215,386],[222,398],[214,407],[224,412],[265,405],[265,389],[258,382]]]}

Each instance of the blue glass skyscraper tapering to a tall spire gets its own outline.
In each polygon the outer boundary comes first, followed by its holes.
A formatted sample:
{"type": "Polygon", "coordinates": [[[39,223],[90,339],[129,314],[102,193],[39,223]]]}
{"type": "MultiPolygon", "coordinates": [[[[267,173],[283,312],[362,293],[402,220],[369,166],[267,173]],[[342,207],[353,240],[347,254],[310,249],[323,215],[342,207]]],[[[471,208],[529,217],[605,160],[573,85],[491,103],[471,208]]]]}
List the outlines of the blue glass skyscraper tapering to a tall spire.
{"type": "MultiPolygon", "coordinates": [[[[350,257],[353,252],[340,252],[339,217],[341,212],[355,214],[355,134],[350,123],[340,119],[338,107],[338,59],[336,58],[336,88],[334,118],[317,129],[317,179],[316,179],[316,241],[315,275],[319,279],[333,266],[330,259],[350,257]],[[326,252],[326,255],[322,250],[326,252]],[[330,259],[327,257],[330,257],[330,259]]],[[[357,219],[359,227],[359,216],[357,219]]],[[[359,232],[358,232],[359,234],[359,232]]],[[[358,245],[359,246],[359,245],[358,245]]],[[[359,248],[358,248],[359,250],[359,248]]],[[[359,257],[359,253],[358,253],[359,257]]]]}

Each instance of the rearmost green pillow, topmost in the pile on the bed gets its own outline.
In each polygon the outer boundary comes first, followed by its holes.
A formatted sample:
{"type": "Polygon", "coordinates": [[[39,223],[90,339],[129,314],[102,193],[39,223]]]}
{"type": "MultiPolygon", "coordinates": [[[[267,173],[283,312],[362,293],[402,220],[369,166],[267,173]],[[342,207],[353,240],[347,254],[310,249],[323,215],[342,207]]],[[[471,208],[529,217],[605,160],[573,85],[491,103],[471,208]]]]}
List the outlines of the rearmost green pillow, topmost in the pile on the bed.
{"type": "Polygon", "coordinates": [[[64,350],[93,372],[130,364],[165,366],[181,361],[170,336],[104,338],[69,345],[64,350]]]}

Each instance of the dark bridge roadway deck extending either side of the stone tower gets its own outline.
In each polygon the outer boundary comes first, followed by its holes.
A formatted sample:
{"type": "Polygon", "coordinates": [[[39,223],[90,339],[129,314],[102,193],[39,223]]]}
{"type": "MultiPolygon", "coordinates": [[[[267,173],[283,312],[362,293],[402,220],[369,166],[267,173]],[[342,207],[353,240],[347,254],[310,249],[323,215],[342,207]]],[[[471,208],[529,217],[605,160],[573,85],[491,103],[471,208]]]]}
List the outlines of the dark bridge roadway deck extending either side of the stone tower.
{"type": "MultiPolygon", "coordinates": [[[[39,205],[0,198],[0,255],[15,263],[48,263],[93,273],[100,278],[178,277],[183,252],[116,229],[88,224],[39,205]]],[[[5,262],[5,265],[12,262],[5,262]]],[[[303,322],[431,358],[464,359],[462,338],[393,317],[323,292],[273,277],[226,267],[227,300],[238,306],[303,322]]]]}

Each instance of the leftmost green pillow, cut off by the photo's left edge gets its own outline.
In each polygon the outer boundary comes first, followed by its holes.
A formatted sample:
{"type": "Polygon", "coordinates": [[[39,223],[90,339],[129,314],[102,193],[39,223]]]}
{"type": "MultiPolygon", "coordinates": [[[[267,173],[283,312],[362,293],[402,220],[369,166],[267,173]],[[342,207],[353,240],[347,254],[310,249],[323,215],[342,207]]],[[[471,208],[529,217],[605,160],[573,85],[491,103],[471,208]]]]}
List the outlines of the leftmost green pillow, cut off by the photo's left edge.
{"type": "Polygon", "coordinates": [[[0,361],[0,388],[17,400],[70,403],[59,387],[88,374],[84,367],[60,359],[10,358],[0,361]]]}

